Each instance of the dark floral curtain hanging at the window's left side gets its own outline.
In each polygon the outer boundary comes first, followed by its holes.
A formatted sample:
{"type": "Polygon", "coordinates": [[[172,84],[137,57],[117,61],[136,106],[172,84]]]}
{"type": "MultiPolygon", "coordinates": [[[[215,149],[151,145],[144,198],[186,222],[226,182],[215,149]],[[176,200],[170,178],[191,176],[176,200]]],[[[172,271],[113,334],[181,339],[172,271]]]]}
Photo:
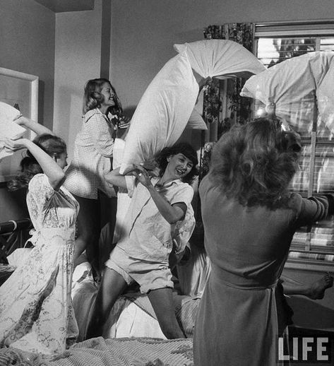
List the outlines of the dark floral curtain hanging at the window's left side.
{"type": "MultiPolygon", "coordinates": [[[[204,28],[203,33],[207,40],[232,40],[253,52],[254,25],[252,23],[209,25],[204,28]]],[[[208,173],[210,155],[215,141],[228,131],[232,124],[244,124],[251,117],[251,99],[240,97],[241,88],[244,86],[245,81],[241,78],[233,78],[227,81],[213,79],[213,82],[204,90],[203,118],[208,125],[208,131],[206,133],[205,131],[202,132],[198,184],[208,173]]],[[[201,202],[198,196],[196,227],[191,238],[191,244],[203,247],[203,238],[201,202]]]]}

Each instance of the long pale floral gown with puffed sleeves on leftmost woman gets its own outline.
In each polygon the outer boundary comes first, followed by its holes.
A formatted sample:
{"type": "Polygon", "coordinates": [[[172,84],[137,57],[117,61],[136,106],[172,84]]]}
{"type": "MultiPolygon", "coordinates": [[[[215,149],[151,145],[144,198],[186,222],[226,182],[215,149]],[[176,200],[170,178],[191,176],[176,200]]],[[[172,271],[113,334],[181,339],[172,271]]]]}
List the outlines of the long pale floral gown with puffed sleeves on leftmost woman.
{"type": "Polygon", "coordinates": [[[44,174],[30,180],[27,204],[35,247],[0,287],[0,345],[59,353],[78,336],[71,278],[79,205],[44,174]]]}

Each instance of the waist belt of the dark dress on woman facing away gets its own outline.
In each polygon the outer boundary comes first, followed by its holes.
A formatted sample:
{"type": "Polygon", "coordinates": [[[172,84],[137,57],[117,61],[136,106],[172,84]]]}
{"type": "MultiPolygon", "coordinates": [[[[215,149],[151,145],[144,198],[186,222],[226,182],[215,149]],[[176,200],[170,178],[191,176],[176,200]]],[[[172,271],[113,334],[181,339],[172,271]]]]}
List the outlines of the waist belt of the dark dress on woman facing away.
{"type": "Polygon", "coordinates": [[[236,273],[225,271],[214,264],[211,264],[211,267],[211,281],[217,281],[232,288],[239,288],[241,290],[266,290],[275,288],[278,283],[277,278],[270,282],[260,282],[256,278],[241,276],[236,273]]]}

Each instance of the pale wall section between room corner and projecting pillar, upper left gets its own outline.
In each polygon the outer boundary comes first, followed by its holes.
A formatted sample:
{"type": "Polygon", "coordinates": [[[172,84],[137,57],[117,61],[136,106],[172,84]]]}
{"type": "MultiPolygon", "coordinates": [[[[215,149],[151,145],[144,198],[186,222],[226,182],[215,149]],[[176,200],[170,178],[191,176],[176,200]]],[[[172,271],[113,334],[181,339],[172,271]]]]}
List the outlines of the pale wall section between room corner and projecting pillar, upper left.
{"type": "Polygon", "coordinates": [[[93,11],[56,14],[54,132],[68,143],[68,156],[81,126],[83,87],[100,77],[102,0],[93,11]]]}

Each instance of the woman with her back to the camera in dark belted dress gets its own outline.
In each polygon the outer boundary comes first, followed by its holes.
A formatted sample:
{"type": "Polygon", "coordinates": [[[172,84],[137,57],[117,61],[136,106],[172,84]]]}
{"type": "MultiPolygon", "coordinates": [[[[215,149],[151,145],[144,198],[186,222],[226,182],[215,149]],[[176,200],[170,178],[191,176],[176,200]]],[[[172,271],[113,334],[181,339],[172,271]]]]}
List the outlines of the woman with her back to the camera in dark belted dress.
{"type": "Polygon", "coordinates": [[[333,213],[333,196],[288,191],[300,138],[280,122],[234,126],[213,148],[201,182],[212,264],[193,339],[197,366],[278,364],[275,288],[297,228],[333,213]]]}

